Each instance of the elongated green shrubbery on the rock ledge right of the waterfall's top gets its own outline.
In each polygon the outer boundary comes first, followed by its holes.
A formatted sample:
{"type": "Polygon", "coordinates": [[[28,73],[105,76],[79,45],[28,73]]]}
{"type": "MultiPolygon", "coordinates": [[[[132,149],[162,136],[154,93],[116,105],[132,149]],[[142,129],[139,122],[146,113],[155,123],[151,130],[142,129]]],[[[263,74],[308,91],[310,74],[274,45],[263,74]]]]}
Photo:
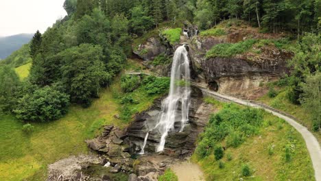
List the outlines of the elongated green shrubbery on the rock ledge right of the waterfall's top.
{"type": "Polygon", "coordinates": [[[235,56],[237,54],[245,53],[253,45],[257,43],[257,40],[244,40],[239,43],[221,43],[212,47],[206,53],[206,58],[215,58],[215,57],[222,57],[228,58],[235,56]]]}

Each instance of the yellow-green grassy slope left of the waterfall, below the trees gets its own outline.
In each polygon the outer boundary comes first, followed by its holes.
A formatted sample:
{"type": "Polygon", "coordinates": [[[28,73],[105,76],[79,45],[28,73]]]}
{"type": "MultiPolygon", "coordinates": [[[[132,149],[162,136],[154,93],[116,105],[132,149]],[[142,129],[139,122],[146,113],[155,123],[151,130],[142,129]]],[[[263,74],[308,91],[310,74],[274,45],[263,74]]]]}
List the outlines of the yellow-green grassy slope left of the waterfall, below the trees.
{"type": "MultiPolygon", "coordinates": [[[[139,69],[139,62],[129,60],[126,69],[139,69]]],[[[100,93],[89,108],[71,106],[65,117],[50,123],[32,123],[34,132],[27,135],[24,123],[12,115],[0,114],[0,180],[45,180],[47,165],[71,155],[87,153],[84,140],[99,134],[102,125],[113,124],[125,128],[128,121],[117,119],[119,99],[113,95],[120,91],[120,76],[109,88],[100,93]]],[[[139,93],[136,92],[136,97],[139,93]]],[[[142,96],[136,105],[138,111],[152,105],[152,98],[142,96]]]]}

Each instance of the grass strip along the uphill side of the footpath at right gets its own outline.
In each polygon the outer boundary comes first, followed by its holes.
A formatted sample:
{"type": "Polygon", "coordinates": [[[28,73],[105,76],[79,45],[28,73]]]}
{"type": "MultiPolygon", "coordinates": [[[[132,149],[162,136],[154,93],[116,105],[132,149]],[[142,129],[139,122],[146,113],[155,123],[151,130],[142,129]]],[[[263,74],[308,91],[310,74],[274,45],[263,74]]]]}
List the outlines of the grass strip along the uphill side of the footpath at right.
{"type": "Polygon", "coordinates": [[[293,115],[299,120],[298,122],[307,127],[308,130],[310,130],[314,134],[314,136],[316,136],[319,143],[321,143],[321,132],[312,131],[313,121],[309,112],[302,108],[302,106],[292,104],[292,102],[289,101],[289,99],[287,98],[287,88],[278,88],[277,92],[278,95],[276,95],[276,97],[269,97],[267,94],[257,99],[257,101],[263,102],[264,104],[267,104],[272,108],[276,108],[293,115]]]}

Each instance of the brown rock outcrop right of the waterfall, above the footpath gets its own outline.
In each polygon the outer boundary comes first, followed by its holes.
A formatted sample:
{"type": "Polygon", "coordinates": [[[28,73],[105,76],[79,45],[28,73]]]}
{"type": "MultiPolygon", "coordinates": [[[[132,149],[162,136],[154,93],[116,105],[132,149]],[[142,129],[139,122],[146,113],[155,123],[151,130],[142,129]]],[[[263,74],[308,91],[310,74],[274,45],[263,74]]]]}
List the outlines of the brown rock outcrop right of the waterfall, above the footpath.
{"type": "Polygon", "coordinates": [[[244,99],[254,99],[265,93],[260,86],[277,80],[288,72],[287,60],[292,52],[272,45],[254,47],[259,53],[246,52],[230,58],[206,58],[206,52],[220,43],[237,43],[241,40],[275,39],[280,34],[261,34],[257,29],[230,27],[226,36],[198,37],[190,43],[189,56],[196,72],[196,81],[205,82],[212,90],[244,99]]]}

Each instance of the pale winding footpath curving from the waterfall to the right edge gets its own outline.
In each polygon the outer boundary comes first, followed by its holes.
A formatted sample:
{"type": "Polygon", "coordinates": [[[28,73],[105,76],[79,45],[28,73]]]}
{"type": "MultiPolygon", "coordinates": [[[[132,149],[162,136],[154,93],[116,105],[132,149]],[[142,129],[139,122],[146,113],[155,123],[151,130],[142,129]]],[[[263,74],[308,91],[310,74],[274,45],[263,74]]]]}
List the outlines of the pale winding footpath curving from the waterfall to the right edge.
{"type": "Polygon", "coordinates": [[[289,123],[294,128],[296,128],[296,130],[298,132],[300,132],[302,137],[305,139],[305,144],[307,145],[307,149],[308,149],[309,154],[311,156],[313,169],[314,169],[314,175],[316,176],[316,181],[321,181],[321,148],[320,148],[320,144],[318,143],[318,140],[316,139],[316,137],[313,136],[313,134],[311,132],[309,132],[309,130],[307,130],[307,128],[305,128],[303,125],[300,125],[300,123],[294,121],[294,119],[291,118],[289,115],[279,112],[279,111],[275,110],[274,108],[270,108],[269,106],[260,105],[257,103],[252,103],[252,102],[245,101],[242,99],[237,99],[235,97],[230,97],[228,95],[222,95],[222,94],[216,93],[214,91],[208,90],[198,84],[193,84],[193,85],[200,88],[200,90],[202,90],[203,94],[207,95],[209,97],[213,97],[213,98],[219,99],[221,101],[235,102],[235,103],[241,104],[243,106],[250,106],[253,108],[262,108],[265,111],[274,114],[274,116],[287,121],[287,123],[289,123]]]}

